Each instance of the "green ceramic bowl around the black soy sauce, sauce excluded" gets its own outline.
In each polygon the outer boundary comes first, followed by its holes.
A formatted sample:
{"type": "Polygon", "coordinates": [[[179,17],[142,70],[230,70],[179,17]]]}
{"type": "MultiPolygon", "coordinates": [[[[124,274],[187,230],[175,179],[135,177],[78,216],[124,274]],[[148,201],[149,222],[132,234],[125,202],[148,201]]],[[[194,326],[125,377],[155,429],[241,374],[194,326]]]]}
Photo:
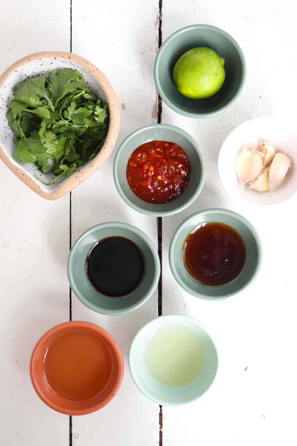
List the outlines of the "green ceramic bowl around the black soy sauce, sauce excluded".
{"type": "Polygon", "coordinates": [[[134,226],[108,222],[91,227],[73,245],[67,264],[73,293],[91,310],[101,314],[124,314],[141,306],[155,291],[160,276],[160,260],[153,242],[134,226]],[[85,259],[98,240],[112,236],[126,237],[138,245],[146,262],[145,275],[136,289],[123,297],[109,297],[96,291],[85,273],[85,259]]]}

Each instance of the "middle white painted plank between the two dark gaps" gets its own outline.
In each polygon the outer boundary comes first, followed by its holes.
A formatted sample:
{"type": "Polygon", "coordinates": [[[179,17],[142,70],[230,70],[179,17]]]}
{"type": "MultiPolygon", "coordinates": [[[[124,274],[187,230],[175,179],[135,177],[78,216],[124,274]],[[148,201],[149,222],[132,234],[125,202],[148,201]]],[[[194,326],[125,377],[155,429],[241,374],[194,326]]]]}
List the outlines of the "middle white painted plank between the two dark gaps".
{"type": "MultiPolygon", "coordinates": [[[[73,53],[93,62],[110,80],[121,108],[118,144],[133,130],[156,122],[153,66],[157,47],[156,2],[73,2],[73,53]]],[[[118,145],[117,145],[118,147],[118,145]]],[[[115,151],[114,151],[115,152],[115,151]]],[[[95,224],[121,221],[137,226],[157,243],[156,219],[132,211],[118,195],[112,176],[114,153],[102,168],[72,193],[73,243],[95,224]]],[[[73,319],[105,328],[124,357],[118,395],[99,412],[73,417],[73,446],[157,445],[159,406],[131,380],[128,351],[136,332],[157,316],[157,293],[138,310],[110,317],[92,312],[73,296],[73,319]]]]}

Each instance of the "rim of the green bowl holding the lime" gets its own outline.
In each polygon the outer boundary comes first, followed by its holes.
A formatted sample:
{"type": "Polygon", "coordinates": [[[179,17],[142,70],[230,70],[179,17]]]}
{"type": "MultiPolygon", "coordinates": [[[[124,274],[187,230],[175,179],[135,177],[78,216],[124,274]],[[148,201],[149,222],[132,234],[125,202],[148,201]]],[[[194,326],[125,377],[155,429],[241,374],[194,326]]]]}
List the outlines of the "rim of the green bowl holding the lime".
{"type": "Polygon", "coordinates": [[[158,54],[157,54],[156,59],[155,59],[154,79],[155,79],[155,84],[156,84],[157,90],[159,92],[159,95],[161,96],[163,101],[168,105],[168,107],[171,108],[171,110],[176,111],[180,115],[187,116],[188,118],[203,119],[203,118],[210,118],[211,116],[220,115],[220,113],[222,113],[225,110],[228,110],[228,108],[233,105],[233,103],[240,96],[240,93],[241,93],[241,91],[244,88],[244,83],[245,83],[245,79],[246,79],[246,71],[247,71],[247,68],[246,68],[246,62],[245,62],[244,53],[241,50],[240,45],[234,39],[234,37],[232,37],[230,34],[228,34],[226,31],[224,31],[224,29],[218,28],[216,26],[197,24],[197,25],[185,26],[184,28],[178,29],[177,31],[172,33],[169,37],[167,37],[167,39],[164,41],[164,43],[160,46],[160,49],[159,49],[158,54]],[[241,78],[241,81],[240,81],[239,88],[237,89],[236,94],[232,97],[232,100],[229,101],[226,105],[224,105],[224,107],[220,107],[218,110],[213,111],[213,112],[209,112],[209,113],[191,113],[191,112],[183,110],[182,108],[177,107],[164,94],[163,88],[162,88],[162,86],[161,86],[161,84],[159,82],[159,74],[158,73],[159,73],[160,60],[161,60],[161,57],[162,57],[162,54],[164,53],[164,51],[167,50],[167,46],[169,45],[171,39],[174,38],[176,35],[185,33],[188,30],[191,30],[191,29],[194,29],[194,28],[212,29],[213,31],[216,31],[218,34],[224,35],[224,37],[226,37],[229,41],[231,41],[232,45],[235,46],[235,48],[236,48],[236,50],[237,50],[237,52],[239,54],[241,64],[242,64],[243,75],[242,75],[242,78],[241,78]]]}

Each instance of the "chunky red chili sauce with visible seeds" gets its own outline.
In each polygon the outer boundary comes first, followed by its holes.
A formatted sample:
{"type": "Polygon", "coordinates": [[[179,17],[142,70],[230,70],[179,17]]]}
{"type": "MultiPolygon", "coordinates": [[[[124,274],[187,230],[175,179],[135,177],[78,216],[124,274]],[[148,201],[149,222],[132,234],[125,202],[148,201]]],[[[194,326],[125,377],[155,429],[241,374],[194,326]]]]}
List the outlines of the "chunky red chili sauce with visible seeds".
{"type": "Polygon", "coordinates": [[[130,155],[126,176],[131,190],[147,203],[166,204],[183,194],[191,165],[187,153],[174,142],[150,141],[130,155]]]}

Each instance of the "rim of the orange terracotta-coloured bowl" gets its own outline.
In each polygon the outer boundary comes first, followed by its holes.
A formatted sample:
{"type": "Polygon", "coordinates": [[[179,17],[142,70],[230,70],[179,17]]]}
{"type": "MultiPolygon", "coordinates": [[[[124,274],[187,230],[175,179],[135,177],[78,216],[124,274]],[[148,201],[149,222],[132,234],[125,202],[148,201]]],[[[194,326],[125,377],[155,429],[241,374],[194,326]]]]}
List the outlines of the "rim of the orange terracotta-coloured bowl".
{"type": "MultiPolygon", "coordinates": [[[[58,324],[58,325],[50,328],[37,341],[35,347],[33,348],[33,352],[32,352],[31,359],[30,359],[30,378],[31,378],[31,382],[32,382],[35,392],[47,406],[49,406],[53,410],[56,410],[57,412],[64,413],[65,415],[85,415],[87,413],[93,413],[99,409],[102,409],[102,407],[106,406],[118,392],[118,389],[120,388],[120,385],[122,383],[123,375],[124,375],[124,360],[123,360],[123,356],[122,356],[120,347],[118,346],[118,343],[106,330],[99,327],[98,325],[92,324],[91,322],[68,321],[68,322],[62,322],[61,324],[58,324]],[[37,385],[36,378],[35,378],[35,369],[34,369],[35,360],[36,360],[36,356],[38,355],[38,351],[43,344],[46,344],[49,336],[53,335],[53,334],[59,335],[61,330],[63,330],[66,327],[70,327],[70,326],[72,326],[73,328],[75,328],[75,327],[89,328],[96,333],[100,333],[100,335],[102,335],[105,339],[107,339],[108,342],[112,345],[112,347],[114,349],[114,353],[118,359],[118,364],[119,364],[118,379],[116,381],[116,384],[114,385],[114,388],[113,388],[111,394],[108,397],[106,397],[104,401],[102,401],[99,404],[94,405],[92,408],[74,409],[73,411],[71,411],[72,412],[71,414],[69,414],[69,411],[67,411],[63,408],[63,405],[53,404],[51,401],[49,401],[49,399],[46,397],[45,393],[42,392],[41,389],[37,385]]],[[[59,396],[59,397],[61,398],[61,400],[63,399],[61,396],[59,396]]]]}

